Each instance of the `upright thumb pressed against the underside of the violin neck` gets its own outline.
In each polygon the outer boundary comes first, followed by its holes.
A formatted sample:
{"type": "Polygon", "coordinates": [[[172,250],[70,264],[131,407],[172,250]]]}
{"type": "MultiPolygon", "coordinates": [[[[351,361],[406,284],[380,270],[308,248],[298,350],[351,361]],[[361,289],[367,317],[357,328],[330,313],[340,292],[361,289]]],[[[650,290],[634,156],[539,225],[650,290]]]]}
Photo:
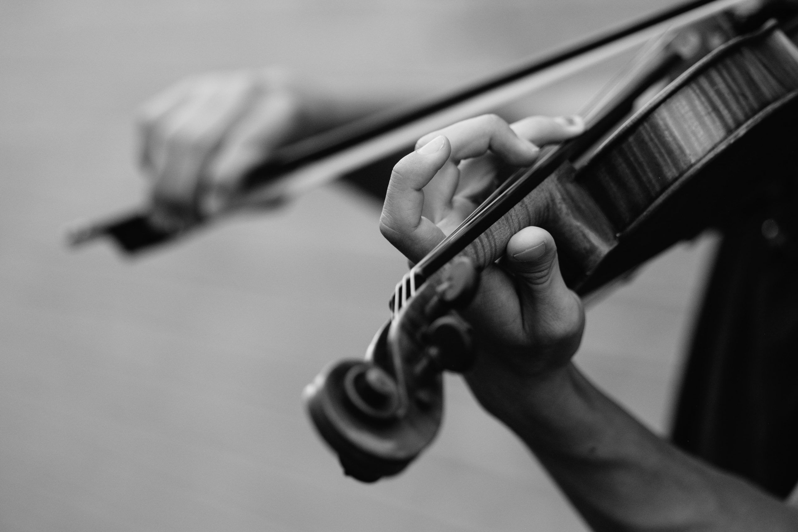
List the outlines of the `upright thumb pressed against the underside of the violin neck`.
{"type": "Polygon", "coordinates": [[[510,238],[505,254],[505,266],[516,277],[527,333],[547,345],[581,330],[575,323],[584,319],[582,303],[563,281],[551,234],[526,227],[510,238]]]}

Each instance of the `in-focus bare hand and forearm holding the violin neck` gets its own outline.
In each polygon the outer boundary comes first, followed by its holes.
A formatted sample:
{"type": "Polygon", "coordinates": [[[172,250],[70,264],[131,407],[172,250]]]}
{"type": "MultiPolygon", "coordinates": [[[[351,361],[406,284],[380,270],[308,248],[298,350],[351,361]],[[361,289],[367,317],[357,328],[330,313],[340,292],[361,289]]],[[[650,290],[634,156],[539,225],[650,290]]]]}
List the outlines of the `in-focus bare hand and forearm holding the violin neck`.
{"type": "MultiPolygon", "coordinates": [[[[535,144],[578,134],[579,120],[495,116],[422,138],[394,167],[381,231],[416,262],[492,186],[496,158],[535,160],[535,144]],[[531,142],[529,142],[531,141],[531,142]]],[[[798,530],[798,510],[693,459],[634,420],[571,363],[584,327],[551,234],[514,235],[464,312],[478,353],[476,399],[526,443],[594,530],[798,530]]]]}

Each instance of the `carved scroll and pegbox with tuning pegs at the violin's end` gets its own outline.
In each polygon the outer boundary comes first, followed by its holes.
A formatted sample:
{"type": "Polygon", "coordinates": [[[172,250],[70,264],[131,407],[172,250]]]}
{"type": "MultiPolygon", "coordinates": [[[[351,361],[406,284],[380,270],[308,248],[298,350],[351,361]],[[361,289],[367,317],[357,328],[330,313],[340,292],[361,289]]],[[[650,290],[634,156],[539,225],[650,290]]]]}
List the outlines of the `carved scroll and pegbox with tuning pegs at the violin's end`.
{"type": "Polygon", "coordinates": [[[325,368],[305,389],[310,419],[344,473],[361,482],[397,475],[432,443],[443,418],[444,370],[472,364],[468,305],[479,274],[456,258],[416,290],[411,272],[397,285],[391,321],[365,359],[325,368]]]}

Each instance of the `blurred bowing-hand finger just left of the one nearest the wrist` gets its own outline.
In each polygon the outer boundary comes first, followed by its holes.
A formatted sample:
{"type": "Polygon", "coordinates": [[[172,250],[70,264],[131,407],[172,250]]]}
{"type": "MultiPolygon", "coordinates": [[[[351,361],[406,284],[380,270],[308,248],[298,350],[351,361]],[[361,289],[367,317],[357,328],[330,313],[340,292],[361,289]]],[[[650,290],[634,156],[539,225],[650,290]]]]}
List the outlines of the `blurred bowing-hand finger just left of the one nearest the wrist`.
{"type": "Polygon", "coordinates": [[[252,97],[253,88],[244,77],[221,85],[210,82],[197,87],[191,99],[156,128],[154,142],[162,150],[153,160],[156,203],[193,207],[207,160],[252,97]]]}

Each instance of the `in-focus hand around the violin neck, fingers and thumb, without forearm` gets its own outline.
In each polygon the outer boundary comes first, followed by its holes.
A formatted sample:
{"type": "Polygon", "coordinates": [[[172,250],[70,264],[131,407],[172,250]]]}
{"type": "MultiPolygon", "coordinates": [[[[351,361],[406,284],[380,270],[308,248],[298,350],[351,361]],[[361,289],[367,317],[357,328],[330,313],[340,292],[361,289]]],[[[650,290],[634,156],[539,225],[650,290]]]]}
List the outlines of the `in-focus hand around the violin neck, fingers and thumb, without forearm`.
{"type": "MultiPolygon", "coordinates": [[[[412,262],[452,232],[495,187],[500,162],[528,166],[538,145],[582,132],[576,117],[532,116],[508,125],[498,116],[464,120],[418,141],[393,169],[381,231],[412,262]]],[[[502,417],[496,389],[526,388],[567,365],[582,337],[581,301],[563,282],[551,234],[538,227],[508,242],[503,266],[489,266],[463,311],[471,322],[476,365],[467,376],[477,398],[502,417]]],[[[499,394],[501,395],[501,394],[499,394]]]]}

